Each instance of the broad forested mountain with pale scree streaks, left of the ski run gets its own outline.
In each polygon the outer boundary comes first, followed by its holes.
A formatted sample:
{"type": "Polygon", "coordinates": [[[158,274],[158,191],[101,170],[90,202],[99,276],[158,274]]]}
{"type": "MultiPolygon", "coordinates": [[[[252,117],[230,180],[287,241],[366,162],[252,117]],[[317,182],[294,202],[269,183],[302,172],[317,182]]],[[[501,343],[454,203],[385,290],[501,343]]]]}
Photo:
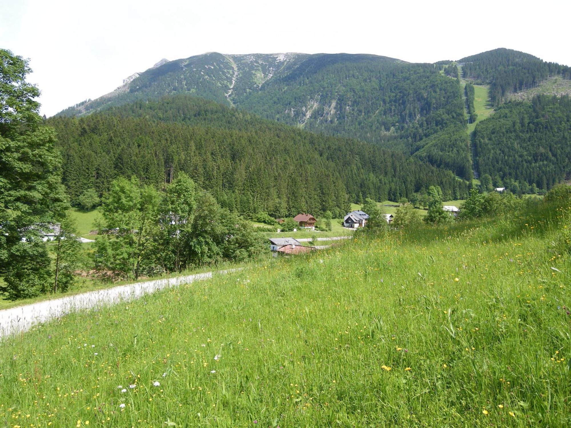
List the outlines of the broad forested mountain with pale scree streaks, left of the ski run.
{"type": "Polygon", "coordinates": [[[433,64],[350,54],[191,56],[151,68],[123,91],[60,115],[170,94],[192,94],[308,130],[376,143],[418,142],[464,121],[456,80],[433,64]]]}

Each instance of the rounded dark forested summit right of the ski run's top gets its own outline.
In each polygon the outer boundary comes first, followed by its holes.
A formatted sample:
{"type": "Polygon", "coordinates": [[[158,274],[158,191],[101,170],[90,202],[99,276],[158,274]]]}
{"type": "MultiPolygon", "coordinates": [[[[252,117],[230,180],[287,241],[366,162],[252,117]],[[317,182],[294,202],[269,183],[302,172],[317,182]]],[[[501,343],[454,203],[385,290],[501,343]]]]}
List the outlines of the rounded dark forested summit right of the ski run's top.
{"type": "Polygon", "coordinates": [[[506,95],[536,87],[549,76],[571,78],[569,67],[512,49],[494,49],[466,56],[459,63],[463,64],[464,78],[490,84],[490,98],[496,107],[506,95]]]}

